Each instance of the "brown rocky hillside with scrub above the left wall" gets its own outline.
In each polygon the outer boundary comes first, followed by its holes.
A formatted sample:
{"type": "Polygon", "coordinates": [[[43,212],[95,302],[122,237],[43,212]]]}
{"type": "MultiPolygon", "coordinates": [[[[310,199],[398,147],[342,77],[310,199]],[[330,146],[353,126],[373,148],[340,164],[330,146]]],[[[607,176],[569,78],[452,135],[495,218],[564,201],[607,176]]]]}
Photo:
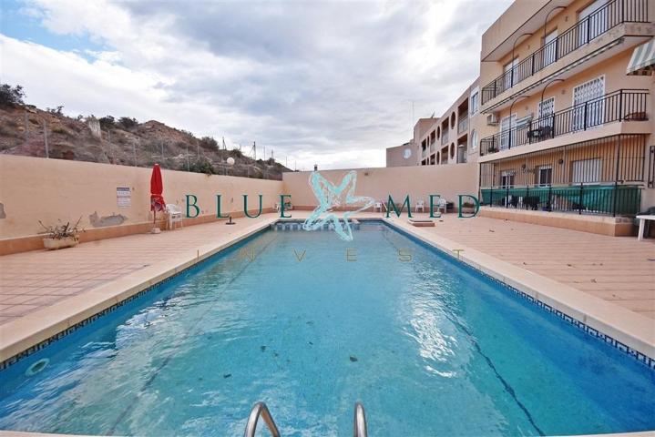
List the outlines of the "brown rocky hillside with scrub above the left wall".
{"type": "MultiPolygon", "coordinates": [[[[0,106],[0,153],[189,170],[249,178],[281,179],[291,171],[272,159],[254,160],[222,141],[198,138],[159,121],[128,117],[66,117],[61,108],[0,106]],[[46,131],[46,132],[44,132],[46,131]],[[229,166],[228,158],[235,164],[229,166]]],[[[248,147],[250,150],[250,147],[248,147]]]]}

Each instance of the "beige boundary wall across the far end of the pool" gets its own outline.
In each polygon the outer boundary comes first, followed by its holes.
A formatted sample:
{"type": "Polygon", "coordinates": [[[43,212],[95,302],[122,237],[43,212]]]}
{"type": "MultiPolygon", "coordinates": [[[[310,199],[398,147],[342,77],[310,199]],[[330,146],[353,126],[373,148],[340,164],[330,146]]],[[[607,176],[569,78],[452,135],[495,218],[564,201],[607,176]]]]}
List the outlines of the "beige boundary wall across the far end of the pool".
{"type": "MultiPolygon", "coordinates": [[[[341,182],[350,170],[321,171],[324,178],[333,184],[341,182]]],[[[425,200],[429,194],[440,194],[448,200],[456,200],[458,194],[476,195],[476,163],[445,166],[358,168],[355,194],[375,199],[388,198],[391,194],[396,202],[402,202],[410,195],[412,205],[416,200],[425,200]]],[[[284,192],[292,195],[294,208],[313,208],[318,203],[310,187],[308,171],[284,173],[284,192]]]]}

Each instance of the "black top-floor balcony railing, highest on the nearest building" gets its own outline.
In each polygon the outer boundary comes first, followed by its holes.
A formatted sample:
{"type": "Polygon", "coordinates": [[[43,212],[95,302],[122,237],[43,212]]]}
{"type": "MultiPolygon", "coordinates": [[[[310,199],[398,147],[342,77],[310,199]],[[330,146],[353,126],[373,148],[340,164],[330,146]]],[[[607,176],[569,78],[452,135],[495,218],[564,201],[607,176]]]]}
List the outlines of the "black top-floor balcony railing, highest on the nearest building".
{"type": "Polygon", "coordinates": [[[613,0],[482,88],[482,104],[621,23],[648,23],[649,0],[613,0]]]}

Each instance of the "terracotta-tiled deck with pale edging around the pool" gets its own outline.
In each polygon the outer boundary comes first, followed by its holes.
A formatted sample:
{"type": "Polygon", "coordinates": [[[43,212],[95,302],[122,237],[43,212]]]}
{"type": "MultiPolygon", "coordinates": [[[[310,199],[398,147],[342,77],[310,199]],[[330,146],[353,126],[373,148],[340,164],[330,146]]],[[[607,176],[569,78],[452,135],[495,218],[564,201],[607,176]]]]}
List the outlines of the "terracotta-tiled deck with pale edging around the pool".
{"type": "MultiPolygon", "coordinates": [[[[294,219],[308,214],[292,212],[294,219]]],[[[107,308],[107,300],[125,299],[276,219],[266,214],[238,219],[234,226],[214,222],[0,257],[0,361],[107,308]]],[[[453,214],[436,220],[435,228],[411,227],[405,217],[391,221],[442,249],[464,249],[460,255],[467,262],[502,272],[502,279],[518,289],[552,291],[571,308],[579,307],[580,319],[599,310],[604,326],[638,331],[655,351],[653,240],[453,214]]]]}

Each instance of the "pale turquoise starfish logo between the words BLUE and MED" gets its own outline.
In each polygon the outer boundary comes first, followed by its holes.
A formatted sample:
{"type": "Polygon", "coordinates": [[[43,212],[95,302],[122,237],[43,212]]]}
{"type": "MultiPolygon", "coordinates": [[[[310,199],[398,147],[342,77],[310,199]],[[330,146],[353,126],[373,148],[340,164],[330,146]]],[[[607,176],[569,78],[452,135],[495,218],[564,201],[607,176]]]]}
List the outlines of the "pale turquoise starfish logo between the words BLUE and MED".
{"type": "Polygon", "coordinates": [[[302,229],[316,230],[322,228],[326,223],[332,223],[339,238],[345,241],[353,240],[353,229],[350,227],[349,218],[357,212],[371,208],[375,200],[367,196],[355,196],[354,187],[357,184],[357,172],[349,171],[336,186],[323,178],[321,173],[313,171],[310,176],[310,186],[314,196],[319,201],[319,206],[312,211],[302,224],[302,229]],[[343,211],[342,217],[335,213],[336,208],[357,207],[353,210],[343,211]]]}

